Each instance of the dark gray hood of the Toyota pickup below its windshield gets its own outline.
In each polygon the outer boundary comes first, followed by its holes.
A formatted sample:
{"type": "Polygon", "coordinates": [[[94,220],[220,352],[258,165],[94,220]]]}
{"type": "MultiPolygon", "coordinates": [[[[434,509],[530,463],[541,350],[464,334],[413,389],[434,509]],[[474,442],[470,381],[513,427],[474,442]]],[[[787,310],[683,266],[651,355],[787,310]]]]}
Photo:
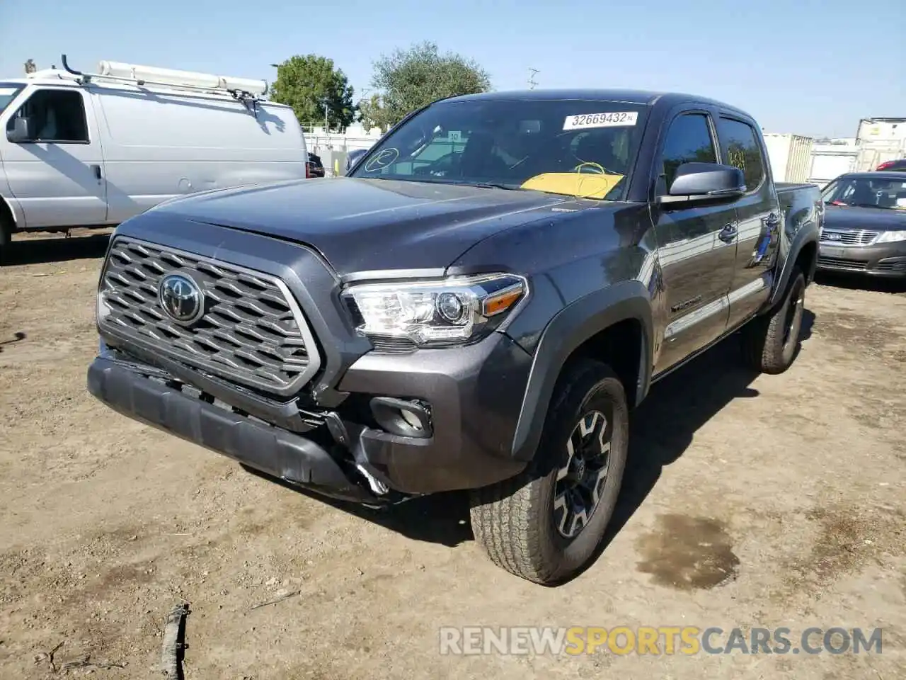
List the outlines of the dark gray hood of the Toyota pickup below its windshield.
{"type": "Polygon", "coordinates": [[[223,189],[149,212],[285,238],[318,250],[340,276],[448,267],[484,238],[536,219],[592,207],[535,191],[332,178],[223,189]]]}

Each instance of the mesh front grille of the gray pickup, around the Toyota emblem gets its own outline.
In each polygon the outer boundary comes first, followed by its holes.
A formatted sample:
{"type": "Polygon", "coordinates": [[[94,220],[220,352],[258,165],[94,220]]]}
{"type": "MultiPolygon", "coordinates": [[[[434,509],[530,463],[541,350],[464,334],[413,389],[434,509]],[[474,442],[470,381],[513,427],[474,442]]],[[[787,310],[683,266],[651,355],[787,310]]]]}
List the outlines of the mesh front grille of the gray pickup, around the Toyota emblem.
{"type": "Polygon", "coordinates": [[[282,281],[145,241],[113,242],[99,311],[115,337],[264,392],[296,393],[320,367],[311,330],[282,281]],[[177,272],[204,296],[204,314],[191,325],[176,323],[159,303],[160,279],[177,272]]]}

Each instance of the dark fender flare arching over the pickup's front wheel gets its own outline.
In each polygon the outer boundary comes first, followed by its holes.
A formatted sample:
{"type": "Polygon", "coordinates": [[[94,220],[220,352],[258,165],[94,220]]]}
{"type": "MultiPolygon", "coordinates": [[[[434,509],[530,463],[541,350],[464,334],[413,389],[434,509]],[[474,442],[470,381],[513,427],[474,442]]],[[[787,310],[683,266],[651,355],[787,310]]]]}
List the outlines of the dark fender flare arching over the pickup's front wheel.
{"type": "Polygon", "coordinates": [[[561,309],[545,327],[516,423],[513,458],[530,461],[535,456],[554,385],[573,351],[593,335],[627,319],[638,321],[642,329],[641,366],[635,393],[627,386],[631,403],[641,402],[651,384],[653,322],[648,289],[641,281],[633,280],[580,297],[561,309]]]}

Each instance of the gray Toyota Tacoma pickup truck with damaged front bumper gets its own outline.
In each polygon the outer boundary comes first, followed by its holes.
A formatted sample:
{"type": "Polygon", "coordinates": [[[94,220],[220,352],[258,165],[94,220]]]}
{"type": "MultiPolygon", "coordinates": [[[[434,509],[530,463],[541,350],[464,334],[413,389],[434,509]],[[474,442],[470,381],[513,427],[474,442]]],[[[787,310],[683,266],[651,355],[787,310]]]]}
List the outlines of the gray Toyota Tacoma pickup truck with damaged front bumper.
{"type": "Polygon", "coordinates": [[[121,224],[88,388],[335,498],[470,490],[490,559],[562,582],[602,540],[652,383],[736,331],[758,370],[792,363],[823,217],[727,104],[442,100],[346,177],[121,224]]]}

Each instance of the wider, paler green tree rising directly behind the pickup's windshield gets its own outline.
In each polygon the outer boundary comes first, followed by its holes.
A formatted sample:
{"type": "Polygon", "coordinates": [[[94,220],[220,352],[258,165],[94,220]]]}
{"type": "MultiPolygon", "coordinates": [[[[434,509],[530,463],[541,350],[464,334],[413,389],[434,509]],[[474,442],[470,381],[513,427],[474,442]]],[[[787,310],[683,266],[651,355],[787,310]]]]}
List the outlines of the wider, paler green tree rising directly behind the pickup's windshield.
{"type": "Polygon", "coordinates": [[[369,115],[381,127],[395,125],[413,109],[443,97],[491,88],[490,77],[476,62],[457,53],[438,53],[437,44],[427,41],[381,55],[371,85],[381,95],[378,100],[372,96],[378,110],[369,115]]]}

